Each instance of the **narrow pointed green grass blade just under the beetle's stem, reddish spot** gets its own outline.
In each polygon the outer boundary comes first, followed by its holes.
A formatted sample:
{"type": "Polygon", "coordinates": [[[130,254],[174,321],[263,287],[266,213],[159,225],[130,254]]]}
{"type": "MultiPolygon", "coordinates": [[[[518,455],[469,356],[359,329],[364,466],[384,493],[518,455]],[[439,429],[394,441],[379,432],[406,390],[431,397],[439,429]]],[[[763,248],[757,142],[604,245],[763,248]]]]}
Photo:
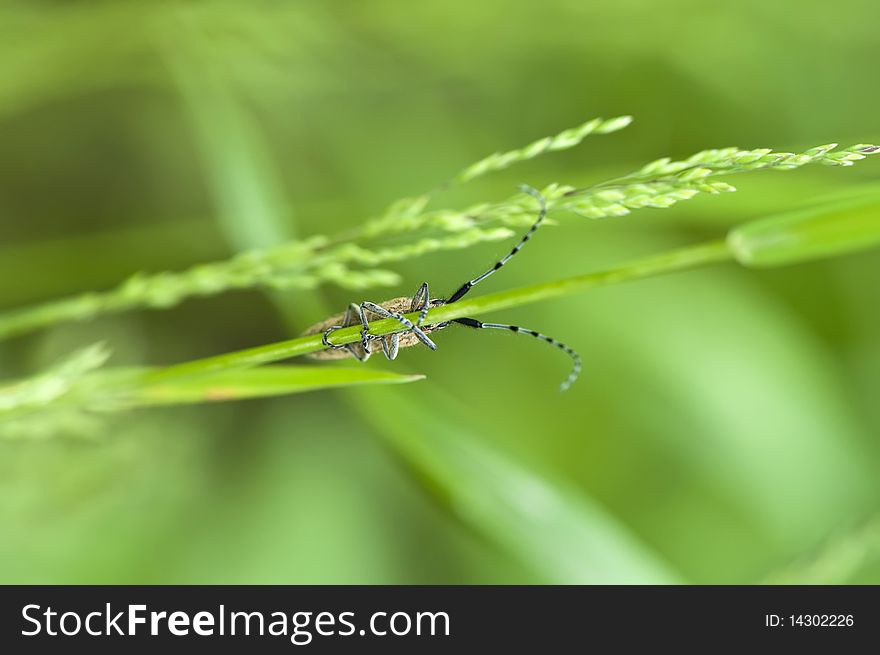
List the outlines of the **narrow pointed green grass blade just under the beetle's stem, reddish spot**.
{"type": "Polygon", "coordinates": [[[283,396],[358,384],[400,384],[424,379],[370,368],[267,366],[223,371],[147,385],[126,397],[135,405],[177,405],[283,396]]]}

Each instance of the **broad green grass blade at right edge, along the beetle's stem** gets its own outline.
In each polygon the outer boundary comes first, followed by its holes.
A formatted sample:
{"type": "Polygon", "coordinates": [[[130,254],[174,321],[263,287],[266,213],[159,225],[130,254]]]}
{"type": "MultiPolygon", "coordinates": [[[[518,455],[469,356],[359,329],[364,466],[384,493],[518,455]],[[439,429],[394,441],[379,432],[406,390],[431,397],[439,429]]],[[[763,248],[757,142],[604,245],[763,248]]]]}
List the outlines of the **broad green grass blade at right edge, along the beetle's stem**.
{"type": "Polygon", "coordinates": [[[864,250],[880,244],[880,192],[770,216],[733,229],[739,263],[763,268],[864,250]]]}

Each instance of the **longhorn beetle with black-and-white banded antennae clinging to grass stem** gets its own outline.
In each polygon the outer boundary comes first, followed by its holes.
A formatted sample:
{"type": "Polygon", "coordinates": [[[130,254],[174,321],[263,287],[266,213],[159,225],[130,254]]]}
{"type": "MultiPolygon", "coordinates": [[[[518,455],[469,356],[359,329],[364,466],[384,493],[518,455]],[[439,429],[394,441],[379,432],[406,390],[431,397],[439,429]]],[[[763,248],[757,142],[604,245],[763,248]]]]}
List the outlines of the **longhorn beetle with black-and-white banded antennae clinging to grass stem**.
{"type": "Polygon", "coordinates": [[[369,301],[362,302],[360,305],[356,303],[351,303],[345,310],[344,314],[331,316],[327,320],[313,325],[304,332],[304,334],[307,335],[317,334],[319,332],[322,333],[322,342],[325,346],[327,346],[327,350],[312,353],[311,357],[315,359],[342,359],[345,357],[354,357],[358,361],[365,362],[370,358],[370,355],[372,354],[370,346],[371,342],[378,340],[382,344],[382,352],[385,354],[385,357],[393,360],[397,357],[397,352],[400,348],[408,348],[409,346],[414,346],[419,342],[425,344],[431,350],[436,350],[437,345],[431,340],[428,335],[431,332],[442,330],[443,328],[449,326],[450,323],[458,323],[459,325],[466,325],[467,327],[476,329],[494,328],[498,330],[510,330],[511,332],[518,332],[521,334],[529,334],[536,339],[540,339],[541,341],[549,343],[552,346],[556,346],[560,350],[564,351],[572,359],[571,373],[560,386],[561,391],[565,391],[566,389],[568,389],[577,379],[578,374],[581,372],[581,358],[574,350],[566,346],[564,343],[557,341],[556,339],[543,335],[540,332],[535,332],[534,330],[517,327],[516,325],[505,325],[503,323],[483,323],[473,318],[456,318],[452,319],[451,321],[444,321],[442,323],[422,325],[429,309],[431,309],[432,307],[439,307],[441,305],[449,305],[461,299],[473,287],[478,285],[480,282],[485,280],[499,268],[504,266],[508,261],[510,261],[513,256],[518,253],[520,249],[525,245],[526,241],[531,239],[535,231],[541,226],[544,217],[547,215],[547,204],[544,201],[544,197],[537,190],[529,186],[523,185],[519,187],[519,189],[523,193],[529,194],[538,201],[538,218],[529,228],[528,232],[526,232],[519,240],[519,243],[517,243],[513,247],[513,250],[511,250],[507,255],[497,261],[495,265],[492,266],[492,268],[490,268],[482,275],[479,275],[474,279],[462,284],[458,288],[458,290],[453,293],[448,299],[432,299],[428,295],[428,283],[424,282],[412,298],[407,298],[403,296],[400,298],[392,298],[391,300],[386,300],[385,302],[379,304],[369,301]],[[415,323],[403,316],[403,314],[416,311],[419,312],[419,317],[415,323]],[[380,318],[393,318],[400,322],[407,329],[404,332],[395,332],[393,334],[387,334],[385,336],[376,336],[370,334],[368,313],[378,316],[380,318]],[[342,328],[350,327],[357,323],[360,323],[360,325],[363,326],[363,329],[361,330],[360,343],[336,345],[330,341],[330,336],[333,334],[333,332],[335,332],[336,330],[341,330],[342,328]]]}

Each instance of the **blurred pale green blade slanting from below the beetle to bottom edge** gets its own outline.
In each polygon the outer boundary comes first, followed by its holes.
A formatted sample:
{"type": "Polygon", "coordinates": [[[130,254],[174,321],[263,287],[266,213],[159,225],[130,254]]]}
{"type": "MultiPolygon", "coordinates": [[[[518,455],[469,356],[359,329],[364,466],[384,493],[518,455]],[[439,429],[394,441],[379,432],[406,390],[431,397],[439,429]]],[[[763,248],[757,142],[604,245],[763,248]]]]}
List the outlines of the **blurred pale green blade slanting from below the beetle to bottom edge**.
{"type": "MultiPolygon", "coordinates": [[[[383,396],[385,396],[383,394],[383,396]]],[[[437,408],[389,407],[369,391],[353,394],[429,491],[453,514],[555,584],[669,584],[681,578],[590,499],[493,450],[437,408]],[[379,411],[389,408],[393,411],[379,411]],[[426,417],[429,417],[426,420],[426,417]]]]}

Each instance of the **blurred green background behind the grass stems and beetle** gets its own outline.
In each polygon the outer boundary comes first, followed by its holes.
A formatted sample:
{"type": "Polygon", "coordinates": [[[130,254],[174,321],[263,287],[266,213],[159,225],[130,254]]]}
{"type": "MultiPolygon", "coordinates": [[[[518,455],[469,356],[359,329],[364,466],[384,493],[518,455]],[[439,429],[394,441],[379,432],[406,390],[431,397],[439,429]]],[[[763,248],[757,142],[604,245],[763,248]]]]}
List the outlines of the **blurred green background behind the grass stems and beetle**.
{"type": "MultiPolygon", "coordinates": [[[[711,147],[877,142],[875,0],[5,2],[0,309],[379,214],[496,150],[634,125],[469,185],[584,184],[711,147]]],[[[870,184],[876,162],[561,217],[488,290],[718,238],[870,184]]],[[[292,336],[351,300],[236,292],[0,343],[0,377],[104,339],[166,364],[292,336]]],[[[492,315],[577,348],[448,330],[368,366],[425,381],[139,410],[0,442],[15,583],[880,583],[880,257],[733,265],[492,315]],[[382,361],[380,361],[382,360],[382,361]]],[[[355,297],[353,297],[355,296],[355,297]]]]}

